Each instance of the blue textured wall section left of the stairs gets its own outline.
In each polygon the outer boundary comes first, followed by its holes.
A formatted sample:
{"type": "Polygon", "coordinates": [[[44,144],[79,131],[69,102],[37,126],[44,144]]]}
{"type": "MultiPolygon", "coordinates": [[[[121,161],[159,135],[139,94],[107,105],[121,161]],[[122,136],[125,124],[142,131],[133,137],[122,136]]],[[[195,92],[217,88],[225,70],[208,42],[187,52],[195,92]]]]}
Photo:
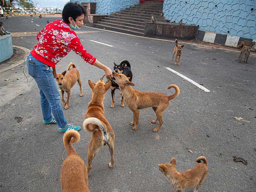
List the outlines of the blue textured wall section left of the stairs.
{"type": "MultiPolygon", "coordinates": [[[[76,2],[77,0],[70,0],[76,2]]],[[[80,3],[96,3],[96,14],[109,15],[110,13],[139,4],[139,0],[78,0],[80,3]]]]}

